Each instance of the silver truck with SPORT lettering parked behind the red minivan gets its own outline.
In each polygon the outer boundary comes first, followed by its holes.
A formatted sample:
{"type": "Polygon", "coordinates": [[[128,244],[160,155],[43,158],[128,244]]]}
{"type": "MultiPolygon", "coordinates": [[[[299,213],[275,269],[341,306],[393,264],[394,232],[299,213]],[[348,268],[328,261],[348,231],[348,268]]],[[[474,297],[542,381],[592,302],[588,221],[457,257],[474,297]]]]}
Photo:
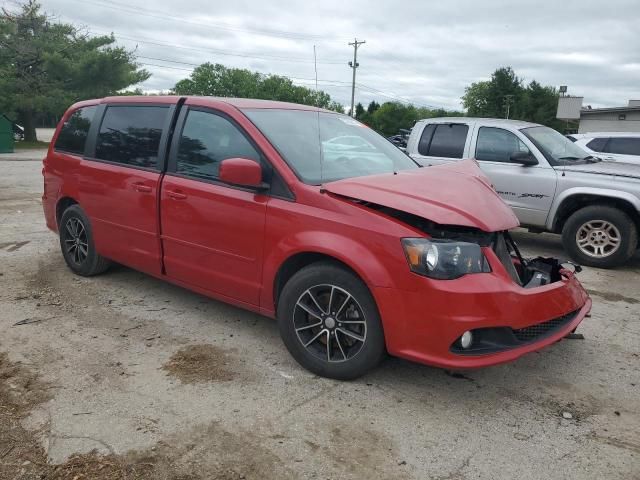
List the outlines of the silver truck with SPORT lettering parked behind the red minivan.
{"type": "Polygon", "coordinates": [[[524,227],[562,234],[569,256],[609,268],[638,247],[640,165],[601,161],[555,130],[488,118],[430,118],[406,152],[424,166],[475,158],[524,227]]]}

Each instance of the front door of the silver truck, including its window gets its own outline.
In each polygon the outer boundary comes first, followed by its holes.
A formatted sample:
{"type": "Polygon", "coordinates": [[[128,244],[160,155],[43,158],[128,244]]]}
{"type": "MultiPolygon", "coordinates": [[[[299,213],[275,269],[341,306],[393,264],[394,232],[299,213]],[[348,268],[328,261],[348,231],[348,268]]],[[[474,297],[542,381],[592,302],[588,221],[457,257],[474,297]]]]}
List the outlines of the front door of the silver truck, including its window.
{"type": "Polygon", "coordinates": [[[544,226],[557,183],[556,171],[544,156],[526,137],[498,127],[476,127],[471,143],[472,156],[520,223],[544,226]],[[511,155],[519,152],[535,156],[538,165],[511,162],[511,155]]]}

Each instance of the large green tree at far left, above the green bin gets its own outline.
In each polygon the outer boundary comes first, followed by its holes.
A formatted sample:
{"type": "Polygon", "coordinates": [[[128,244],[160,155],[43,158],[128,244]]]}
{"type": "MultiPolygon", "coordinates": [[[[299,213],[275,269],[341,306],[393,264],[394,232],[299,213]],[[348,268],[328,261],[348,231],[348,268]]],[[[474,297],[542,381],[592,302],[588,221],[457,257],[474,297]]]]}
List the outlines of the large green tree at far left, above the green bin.
{"type": "Polygon", "coordinates": [[[111,36],[89,37],[56,23],[28,0],[0,13],[0,110],[17,115],[35,141],[36,113],[61,115],[69,104],[113,95],[150,74],[111,36]]]}

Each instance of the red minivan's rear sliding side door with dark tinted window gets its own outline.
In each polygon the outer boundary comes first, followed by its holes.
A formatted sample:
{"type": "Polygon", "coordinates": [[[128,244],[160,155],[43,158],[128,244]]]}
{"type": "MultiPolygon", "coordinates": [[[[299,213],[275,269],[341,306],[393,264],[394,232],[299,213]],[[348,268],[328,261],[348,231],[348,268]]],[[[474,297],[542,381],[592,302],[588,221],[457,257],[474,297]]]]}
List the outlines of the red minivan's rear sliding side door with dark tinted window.
{"type": "Polygon", "coordinates": [[[171,105],[101,106],[95,142],[77,170],[96,250],[155,275],[162,265],[156,195],[172,112],[171,105]]]}

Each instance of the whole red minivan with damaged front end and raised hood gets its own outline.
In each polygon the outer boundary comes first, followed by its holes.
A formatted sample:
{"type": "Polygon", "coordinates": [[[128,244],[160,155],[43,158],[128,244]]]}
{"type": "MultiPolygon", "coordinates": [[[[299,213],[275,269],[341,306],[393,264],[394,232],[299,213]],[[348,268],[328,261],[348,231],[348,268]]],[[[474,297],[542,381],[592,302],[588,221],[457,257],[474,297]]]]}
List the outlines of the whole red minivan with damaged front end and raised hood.
{"type": "Polygon", "coordinates": [[[84,101],[43,174],[73,272],[115,261],[275,317],[296,360],[327,377],[355,378],[387,352],[450,369],[507,362],[591,308],[575,269],[520,255],[518,220],[473,160],[420,168],[335,112],[84,101]]]}

